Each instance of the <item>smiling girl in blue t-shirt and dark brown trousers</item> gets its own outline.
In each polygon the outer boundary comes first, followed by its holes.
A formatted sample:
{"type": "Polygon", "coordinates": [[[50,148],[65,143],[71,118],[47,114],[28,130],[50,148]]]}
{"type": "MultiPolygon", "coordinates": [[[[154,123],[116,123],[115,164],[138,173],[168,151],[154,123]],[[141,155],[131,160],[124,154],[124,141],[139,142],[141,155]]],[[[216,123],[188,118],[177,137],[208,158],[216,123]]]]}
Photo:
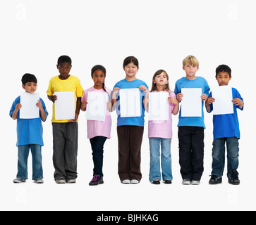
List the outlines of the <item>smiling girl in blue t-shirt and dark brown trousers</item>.
{"type": "MultiPolygon", "coordinates": [[[[147,87],[147,84],[137,79],[139,70],[138,59],[128,56],[123,60],[123,70],[126,78],[117,82],[112,92],[112,107],[119,102],[118,91],[121,89],[135,89],[140,85],[147,87]]],[[[121,117],[118,113],[117,135],[118,135],[118,175],[123,184],[138,184],[142,178],[140,172],[140,148],[144,131],[145,109],[142,105],[144,99],[143,91],[140,91],[140,117],[121,117]]],[[[120,112],[122,105],[118,104],[117,111],[120,112]]]]}

